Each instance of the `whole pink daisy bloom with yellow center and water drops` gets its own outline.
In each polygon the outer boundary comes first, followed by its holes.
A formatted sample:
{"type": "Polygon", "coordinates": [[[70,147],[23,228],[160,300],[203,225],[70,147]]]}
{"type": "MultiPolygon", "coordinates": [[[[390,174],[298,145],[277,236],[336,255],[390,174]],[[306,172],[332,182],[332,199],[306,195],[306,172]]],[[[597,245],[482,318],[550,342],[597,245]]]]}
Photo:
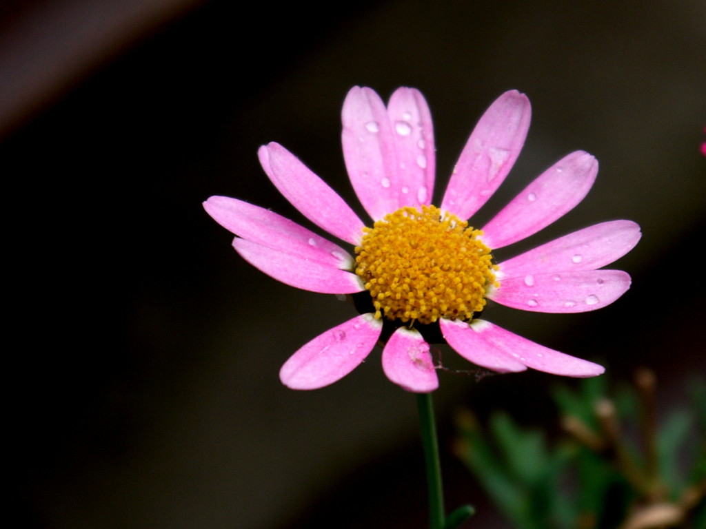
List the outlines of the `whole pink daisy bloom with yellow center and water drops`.
{"type": "Polygon", "coordinates": [[[280,193],[313,224],[353,245],[353,255],[268,209],[218,196],[204,203],[237,236],[235,250],[265,274],[304,290],[354,294],[357,305],[368,306],[294,353],[280,370],[285,385],[332,384],[389,336],[382,354],[388,379],[407,391],[433,391],[438,378],[424,336],[439,331],[462,357],[497,372],[604,372],[479,317],[486,298],[534,312],[585,312],[628,290],[626,272],[600,269],[638,243],[640,228],[627,220],[590,226],[497,265],[491,260],[491,250],[537,233],[577,205],[596,178],[594,157],[568,154],[479,231],[465,219],[501,185],[520,154],[530,126],[525,95],[505,92],[481,117],[438,208],[430,202],[431,114],[419,91],[402,87],[385,107],[370,88],[354,87],[342,121],[349,178],[375,221],[372,228],[285,147],[270,143],[258,155],[280,193]]]}

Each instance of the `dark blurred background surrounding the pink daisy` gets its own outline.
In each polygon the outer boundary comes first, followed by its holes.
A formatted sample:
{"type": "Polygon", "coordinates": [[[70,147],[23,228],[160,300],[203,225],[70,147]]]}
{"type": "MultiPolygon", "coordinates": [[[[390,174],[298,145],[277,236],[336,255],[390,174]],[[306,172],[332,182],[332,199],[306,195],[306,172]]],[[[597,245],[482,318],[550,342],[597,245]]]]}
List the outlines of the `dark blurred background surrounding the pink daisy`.
{"type": "MultiPolygon", "coordinates": [[[[583,149],[601,164],[592,192],[528,244],[618,218],[644,236],[616,265],[633,288],[611,307],[486,317],[614,379],[652,367],[662,412],[703,374],[701,0],[35,0],[1,15],[6,402],[23,527],[426,525],[414,399],[385,379],[379,351],[319,391],[277,377],[352,306],[251,268],[200,204],[231,195],[302,221],[258,166],[276,140],[363,215],[340,152],[353,85],[424,92],[437,198],[484,109],[525,92],[525,150],[474,224],[583,149]]],[[[473,501],[477,526],[505,527],[450,454],[453,411],[507,408],[554,428],[556,382],[441,374],[450,508],[473,501]]]]}

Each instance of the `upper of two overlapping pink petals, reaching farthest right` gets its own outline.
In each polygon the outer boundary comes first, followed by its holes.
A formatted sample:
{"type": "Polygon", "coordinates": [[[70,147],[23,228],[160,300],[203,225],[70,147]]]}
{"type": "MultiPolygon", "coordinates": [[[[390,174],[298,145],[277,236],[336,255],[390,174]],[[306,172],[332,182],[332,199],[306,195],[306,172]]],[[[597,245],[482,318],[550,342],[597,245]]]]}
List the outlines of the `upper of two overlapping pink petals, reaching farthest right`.
{"type": "Polygon", "coordinates": [[[501,262],[499,278],[595,270],[620,259],[640,241],[640,226],[617,220],[589,226],[501,262]]]}

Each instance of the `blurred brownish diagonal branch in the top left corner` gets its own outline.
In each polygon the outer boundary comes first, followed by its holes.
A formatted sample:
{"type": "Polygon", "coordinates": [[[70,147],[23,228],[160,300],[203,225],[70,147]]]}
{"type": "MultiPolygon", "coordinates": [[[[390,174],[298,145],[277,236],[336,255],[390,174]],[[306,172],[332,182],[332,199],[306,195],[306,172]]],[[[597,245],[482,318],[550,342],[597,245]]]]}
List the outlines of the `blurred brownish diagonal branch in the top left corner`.
{"type": "Polygon", "coordinates": [[[44,0],[6,15],[0,28],[0,139],[203,1],[44,0]]]}

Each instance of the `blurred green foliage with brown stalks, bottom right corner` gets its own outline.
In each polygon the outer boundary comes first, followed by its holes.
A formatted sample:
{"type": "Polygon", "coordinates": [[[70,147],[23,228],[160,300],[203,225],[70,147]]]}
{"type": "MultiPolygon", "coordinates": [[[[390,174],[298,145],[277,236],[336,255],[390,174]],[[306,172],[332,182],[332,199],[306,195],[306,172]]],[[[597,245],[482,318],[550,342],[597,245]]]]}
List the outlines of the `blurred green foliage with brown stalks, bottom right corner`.
{"type": "Polygon", "coordinates": [[[457,454],[518,529],[706,528],[705,386],[696,385],[695,406],[657,422],[654,376],[643,371],[635,385],[612,399],[606,377],[557,387],[567,435],[554,443],[503,411],[484,426],[466,411],[457,454]],[[638,520],[662,506],[681,521],[638,520]]]}

